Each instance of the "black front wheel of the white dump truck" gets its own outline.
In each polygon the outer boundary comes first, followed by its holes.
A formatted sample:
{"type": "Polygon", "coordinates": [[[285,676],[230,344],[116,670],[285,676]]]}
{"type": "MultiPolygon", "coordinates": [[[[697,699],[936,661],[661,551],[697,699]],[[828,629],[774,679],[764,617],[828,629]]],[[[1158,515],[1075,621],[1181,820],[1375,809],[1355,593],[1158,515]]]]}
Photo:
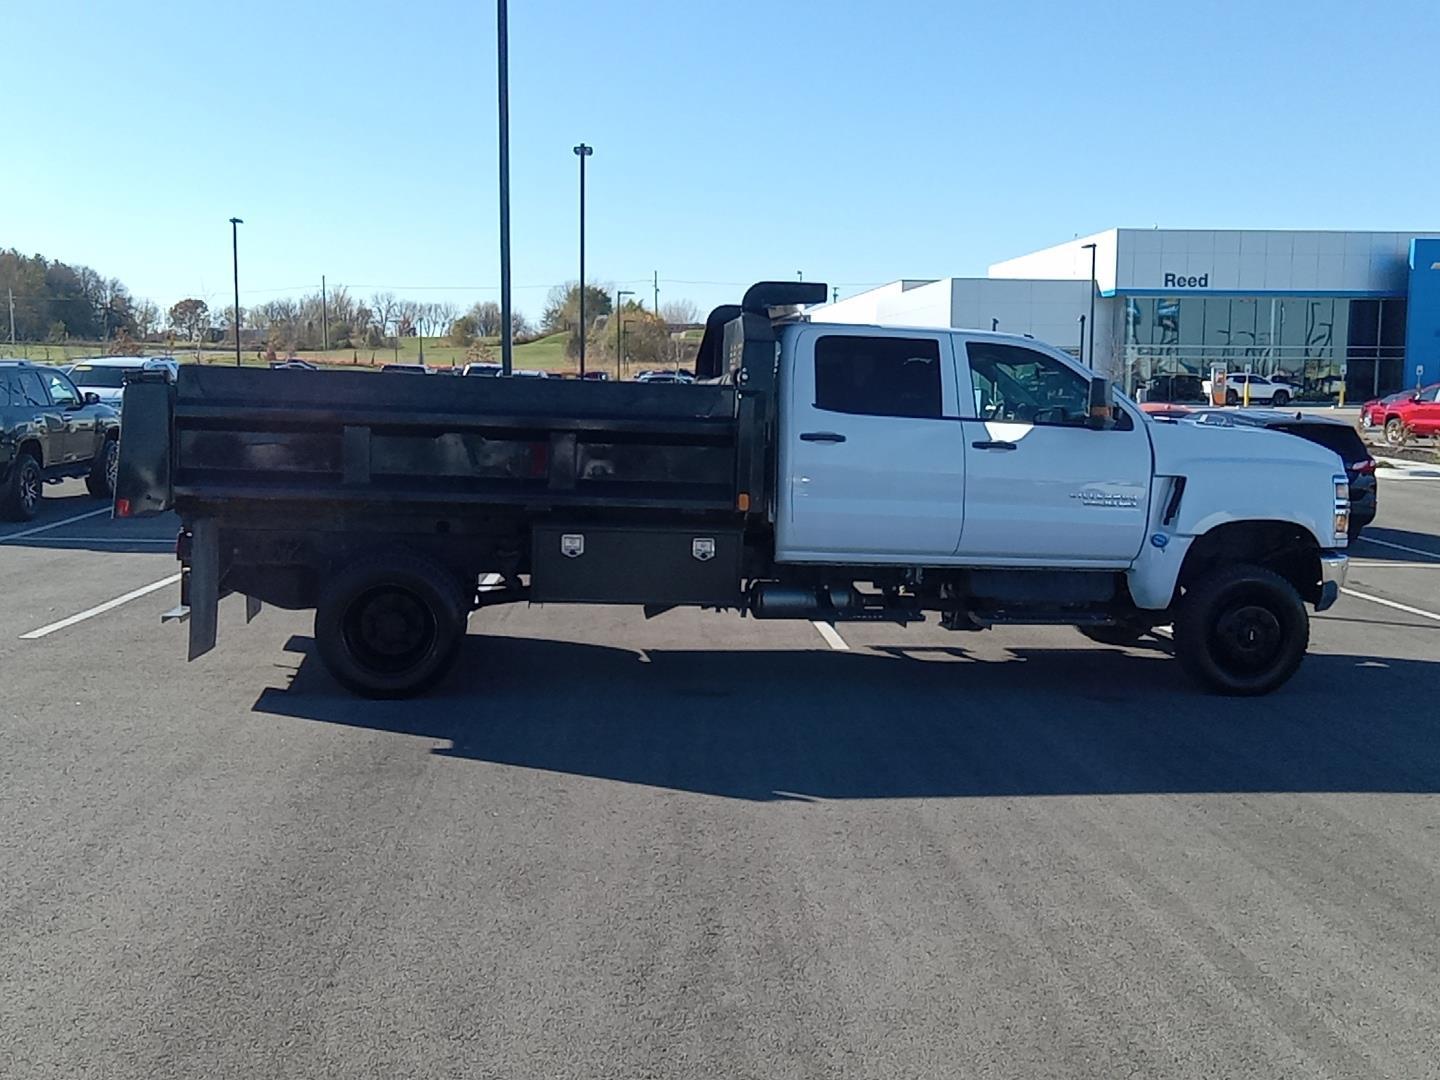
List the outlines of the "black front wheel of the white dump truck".
{"type": "Polygon", "coordinates": [[[1212,570],[1185,589],[1175,615],[1175,655],[1221,694],[1269,694],[1300,667],[1310,618],[1284,577],[1263,566],[1212,570]]]}

